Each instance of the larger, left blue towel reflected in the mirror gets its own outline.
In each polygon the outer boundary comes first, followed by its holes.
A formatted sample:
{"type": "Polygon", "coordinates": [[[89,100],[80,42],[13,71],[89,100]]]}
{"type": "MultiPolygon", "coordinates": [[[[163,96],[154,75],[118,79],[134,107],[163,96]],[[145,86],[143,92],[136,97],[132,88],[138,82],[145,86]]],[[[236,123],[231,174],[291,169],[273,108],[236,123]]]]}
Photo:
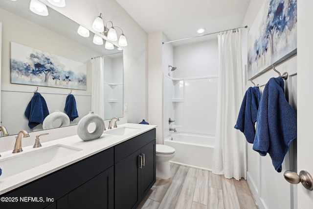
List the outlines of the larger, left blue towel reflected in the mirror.
{"type": "Polygon", "coordinates": [[[36,92],[28,103],[24,112],[25,117],[28,119],[28,126],[30,129],[42,124],[45,117],[49,114],[45,99],[40,93],[36,92]]]}

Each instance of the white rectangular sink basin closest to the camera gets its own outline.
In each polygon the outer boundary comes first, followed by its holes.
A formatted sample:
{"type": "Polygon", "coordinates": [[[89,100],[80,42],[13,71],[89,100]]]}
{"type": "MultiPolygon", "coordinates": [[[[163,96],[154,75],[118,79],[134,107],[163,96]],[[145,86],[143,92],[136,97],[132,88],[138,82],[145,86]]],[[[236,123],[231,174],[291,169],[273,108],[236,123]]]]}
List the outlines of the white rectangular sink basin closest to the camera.
{"type": "Polygon", "coordinates": [[[27,153],[22,152],[17,154],[17,156],[3,159],[0,157],[0,168],[2,169],[0,180],[81,150],[75,147],[57,144],[39,150],[34,149],[34,151],[27,153]]]}

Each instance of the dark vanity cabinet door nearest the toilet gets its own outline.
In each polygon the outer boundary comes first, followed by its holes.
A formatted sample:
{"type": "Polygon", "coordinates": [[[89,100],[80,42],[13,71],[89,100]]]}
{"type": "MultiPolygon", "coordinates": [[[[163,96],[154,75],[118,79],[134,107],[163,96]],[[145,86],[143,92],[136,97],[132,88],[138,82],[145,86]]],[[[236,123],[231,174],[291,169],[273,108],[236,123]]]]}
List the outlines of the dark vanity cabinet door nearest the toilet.
{"type": "Polygon", "coordinates": [[[141,194],[143,199],[156,183],[156,140],[141,148],[143,166],[141,169],[141,194]]]}

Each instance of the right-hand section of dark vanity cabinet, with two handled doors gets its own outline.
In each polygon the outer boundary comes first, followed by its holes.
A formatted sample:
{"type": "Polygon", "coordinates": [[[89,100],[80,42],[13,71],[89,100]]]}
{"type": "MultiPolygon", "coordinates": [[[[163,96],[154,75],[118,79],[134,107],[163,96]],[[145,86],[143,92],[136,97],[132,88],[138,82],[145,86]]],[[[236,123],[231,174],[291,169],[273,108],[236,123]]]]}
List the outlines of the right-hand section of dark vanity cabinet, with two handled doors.
{"type": "Polygon", "coordinates": [[[115,209],[135,209],[156,182],[156,130],[114,149],[115,209]]]}

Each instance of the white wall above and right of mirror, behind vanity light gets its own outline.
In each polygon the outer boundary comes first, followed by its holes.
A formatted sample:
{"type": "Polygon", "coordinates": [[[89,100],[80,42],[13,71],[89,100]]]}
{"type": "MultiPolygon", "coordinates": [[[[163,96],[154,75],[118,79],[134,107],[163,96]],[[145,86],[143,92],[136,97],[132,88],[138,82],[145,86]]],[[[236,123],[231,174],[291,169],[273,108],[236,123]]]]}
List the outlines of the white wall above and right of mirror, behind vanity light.
{"type": "MultiPolygon", "coordinates": [[[[47,0],[42,1],[51,5],[47,0]]],[[[115,0],[92,0],[92,3],[86,0],[67,0],[66,7],[51,7],[91,31],[93,31],[92,22],[100,13],[104,15],[105,22],[112,21],[115,26],[123,29],[128,42],[128,46],[123,47],[123,101],[128,106],[127,110],[124,110],[124,116],[128,117],[130,123],[139,123],[143,118],[147,118],[147,33],[115,0]]],[[[117,33],[119,32],[117,29],[117,33]]],[[[118,45],[117,42],[114,44],[118,45]]]]}

